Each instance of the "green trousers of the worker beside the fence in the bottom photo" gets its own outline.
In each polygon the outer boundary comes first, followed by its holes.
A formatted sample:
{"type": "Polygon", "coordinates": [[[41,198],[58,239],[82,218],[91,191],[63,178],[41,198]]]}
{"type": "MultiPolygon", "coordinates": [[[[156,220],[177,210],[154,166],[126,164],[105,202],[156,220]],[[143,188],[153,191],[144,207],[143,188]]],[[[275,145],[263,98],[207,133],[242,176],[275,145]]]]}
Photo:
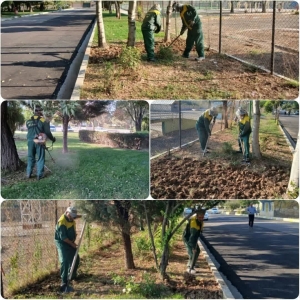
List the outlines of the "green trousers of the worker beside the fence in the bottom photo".
{"type": "MultiPolygon", "coordinates": [[[[68,281],[68,274],[72,266],[76,249],[67,244],[66,245],[61,244],[58,241],[55,241],[55,243],[56,243],[58,258],[60,262],[60,277],[61,277],[62,284],[64,284],[67,283],[68,281]]],[[[79,266],[79,262],[80,262],[80,257],[78,255],[71,279],[74,279],[77,276],[77,269],[79,266]]]]}

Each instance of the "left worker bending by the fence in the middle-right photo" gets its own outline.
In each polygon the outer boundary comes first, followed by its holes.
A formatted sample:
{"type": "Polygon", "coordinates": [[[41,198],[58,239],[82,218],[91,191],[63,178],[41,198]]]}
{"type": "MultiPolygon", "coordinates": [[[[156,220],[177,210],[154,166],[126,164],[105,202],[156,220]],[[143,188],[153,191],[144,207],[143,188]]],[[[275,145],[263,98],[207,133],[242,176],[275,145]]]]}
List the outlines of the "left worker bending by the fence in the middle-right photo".
{"type": "Polygon", "coordinates": [[[216,117],[218,116],[217,109],[215,107],[207,109],[201,114],[198,121],[196,122],[196,129],[199,136],[200,146],[203,152],[208,152],[206,144],[208,137],[211,135],[210,123],[213,120],[215,123],[216,117]]]}

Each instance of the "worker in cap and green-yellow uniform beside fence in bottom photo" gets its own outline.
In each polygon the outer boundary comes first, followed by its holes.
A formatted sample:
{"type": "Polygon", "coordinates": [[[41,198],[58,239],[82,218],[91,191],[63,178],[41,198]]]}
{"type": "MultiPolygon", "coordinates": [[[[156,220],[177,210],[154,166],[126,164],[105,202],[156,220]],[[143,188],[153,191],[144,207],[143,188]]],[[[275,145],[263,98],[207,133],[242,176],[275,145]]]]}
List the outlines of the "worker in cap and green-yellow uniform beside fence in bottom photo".
{"type": "MultiPolygon", "coordinates": [[[[75,207],[68,207],[65,213],[59,218],[55,227],[55,245],[60,262],[60,291],[64,292],[68,283],[68,274],[76,253],[76,223],[75,219],[80,218],[75,207]]],[[[77,256],[74,271],[71,279],[77,277],[77,269],[80,258],[77,256]]]]}

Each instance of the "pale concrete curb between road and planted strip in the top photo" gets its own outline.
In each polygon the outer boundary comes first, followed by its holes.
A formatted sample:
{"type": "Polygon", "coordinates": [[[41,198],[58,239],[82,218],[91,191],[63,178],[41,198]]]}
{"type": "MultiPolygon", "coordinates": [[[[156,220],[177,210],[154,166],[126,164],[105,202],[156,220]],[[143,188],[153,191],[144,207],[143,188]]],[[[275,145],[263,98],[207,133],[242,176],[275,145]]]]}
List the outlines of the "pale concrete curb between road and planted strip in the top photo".
{"type": "Polygon", "coordinates": [[[94,40],[95,30],[97,28],[96,24],[97,24],[97,20],[95,20],[95,22],[94,22],[93,29],[92,29],[92,34],[91,34],[91,37],[89,39],[88,45],[86,47],[84,57],[83,57],[83,60],[82,60],[81,66],[80,66],[80,70],[79,70],[79,73],[78,73],[78,76],[77,76],[75,86],[74,86],[74,89],[73,89],[70,100],[80,100],[80,91],[81,91],[81,88],[82,88],[83,83],[84,83],[85,72],[86,72],[86,69],[87,69],[88,63],[89,63],[91,47],[92,47],[93,40],[94,40]]]}

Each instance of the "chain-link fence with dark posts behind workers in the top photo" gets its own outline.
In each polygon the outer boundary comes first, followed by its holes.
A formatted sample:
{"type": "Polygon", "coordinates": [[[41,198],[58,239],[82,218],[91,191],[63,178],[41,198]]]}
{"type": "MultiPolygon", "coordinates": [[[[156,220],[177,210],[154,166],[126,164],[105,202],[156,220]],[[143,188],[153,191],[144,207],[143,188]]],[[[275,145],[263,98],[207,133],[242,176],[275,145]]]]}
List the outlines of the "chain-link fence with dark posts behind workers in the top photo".
{"type": "MultiPolygon", "coordinates": [[[[139,1],[138,14],[154,3],[166,24],[169,1],[139,1]]],[[[180,1],[194,6],[202,21],[205,46],[220,54],[299,80],[299,12],[296,1],[180,1]]],[[[126,9],[126,3],[123,4],[126,9]]],[[[182,26],[172,13],[171,33],[182,26]]]]}

